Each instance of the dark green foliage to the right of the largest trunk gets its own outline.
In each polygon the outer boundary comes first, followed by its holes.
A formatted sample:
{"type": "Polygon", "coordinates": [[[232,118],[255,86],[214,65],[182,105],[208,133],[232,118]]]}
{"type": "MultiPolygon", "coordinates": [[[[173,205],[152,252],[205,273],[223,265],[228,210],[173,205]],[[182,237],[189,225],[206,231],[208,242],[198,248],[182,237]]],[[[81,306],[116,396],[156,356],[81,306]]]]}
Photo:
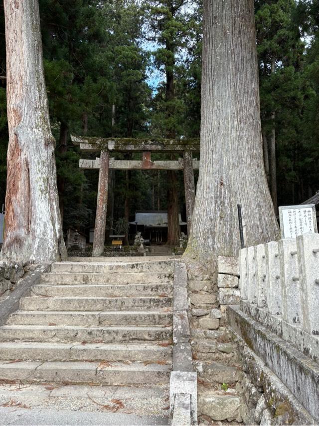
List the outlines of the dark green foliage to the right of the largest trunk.
{"type": "Polygon", "coordinates": [[[315,72],[310,74],[316,65],[312,47],[307,49],[302,39],[302,6],[295,0],[255,1],[262,127],[266,135],[271,133],[274,113],[281,205],[305,201],[318,190],[318,96],[315,72]]]}

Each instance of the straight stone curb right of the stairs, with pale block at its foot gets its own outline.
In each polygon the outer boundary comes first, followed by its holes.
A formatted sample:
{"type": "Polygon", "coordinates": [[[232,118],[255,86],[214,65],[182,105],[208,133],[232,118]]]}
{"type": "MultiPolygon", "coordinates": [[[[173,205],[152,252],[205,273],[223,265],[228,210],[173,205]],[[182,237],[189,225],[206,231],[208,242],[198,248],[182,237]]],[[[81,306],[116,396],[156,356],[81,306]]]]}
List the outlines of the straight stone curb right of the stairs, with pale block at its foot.
{"type": "Polygon", "coordinates": [[[197,424],[197,373],[192,366],[187,309],[186,265],[176,262],[173,284],[173,371],[169,381],[172,425],[197,424]]]}

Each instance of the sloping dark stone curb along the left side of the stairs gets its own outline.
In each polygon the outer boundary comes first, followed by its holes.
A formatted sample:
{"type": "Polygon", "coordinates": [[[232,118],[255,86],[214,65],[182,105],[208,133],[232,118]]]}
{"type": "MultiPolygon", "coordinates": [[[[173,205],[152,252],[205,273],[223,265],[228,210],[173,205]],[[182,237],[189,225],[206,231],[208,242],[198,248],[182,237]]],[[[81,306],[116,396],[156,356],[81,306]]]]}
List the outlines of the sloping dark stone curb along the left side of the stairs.
{"type": "Polygon", "coordinates": [[[19,307],[20,299],[34,285],[40,282],[40,276],[43,272],[48,272],[50,264],[44,264],[36,267],[28,275],[25,275],[9,296],[0,302],[0,325],[3,325],[8,316],[15,312],[19,307]]]}

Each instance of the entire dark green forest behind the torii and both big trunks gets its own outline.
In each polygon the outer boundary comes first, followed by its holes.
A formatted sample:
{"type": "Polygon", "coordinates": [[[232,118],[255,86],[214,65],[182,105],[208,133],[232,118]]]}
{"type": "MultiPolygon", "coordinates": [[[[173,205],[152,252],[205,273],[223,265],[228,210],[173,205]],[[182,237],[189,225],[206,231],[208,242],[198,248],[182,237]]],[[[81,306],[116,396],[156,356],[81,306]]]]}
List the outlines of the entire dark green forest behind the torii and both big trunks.
{"type": "MultiPolygon", "coordinates": [[[[63,228],[84,230],[94,223],[98,174],[78,168],[83,154],[71,134],[162,138],[173,129],[176,138],[199,137],[202,4],[39,0],[39,7],[63,228]]],[[[266,175],[275,206],[298,204],[319,190],[319,2],[258,0],[255,21],[266,175]]],[[[0,37],[1,207],[8,143],[2,4],[0,37]]],[[[185,220],[183,177],[176,175],[185,220]]],[[[113,172],[109,220],[166,210],[167,185],[164,171],[113,172]]]]}

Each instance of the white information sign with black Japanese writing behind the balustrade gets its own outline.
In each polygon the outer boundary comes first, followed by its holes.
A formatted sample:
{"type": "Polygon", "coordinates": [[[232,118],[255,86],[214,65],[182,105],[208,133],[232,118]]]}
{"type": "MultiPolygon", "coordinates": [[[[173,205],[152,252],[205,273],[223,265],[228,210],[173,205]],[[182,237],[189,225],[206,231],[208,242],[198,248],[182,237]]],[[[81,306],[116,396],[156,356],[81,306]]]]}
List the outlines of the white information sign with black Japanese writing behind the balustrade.
{"type": "Polygon", "coordinates": [[[279,220],[282,238],[296,238],[306,232],[318,232],[314,204],[280,207],[279,220]]]}

